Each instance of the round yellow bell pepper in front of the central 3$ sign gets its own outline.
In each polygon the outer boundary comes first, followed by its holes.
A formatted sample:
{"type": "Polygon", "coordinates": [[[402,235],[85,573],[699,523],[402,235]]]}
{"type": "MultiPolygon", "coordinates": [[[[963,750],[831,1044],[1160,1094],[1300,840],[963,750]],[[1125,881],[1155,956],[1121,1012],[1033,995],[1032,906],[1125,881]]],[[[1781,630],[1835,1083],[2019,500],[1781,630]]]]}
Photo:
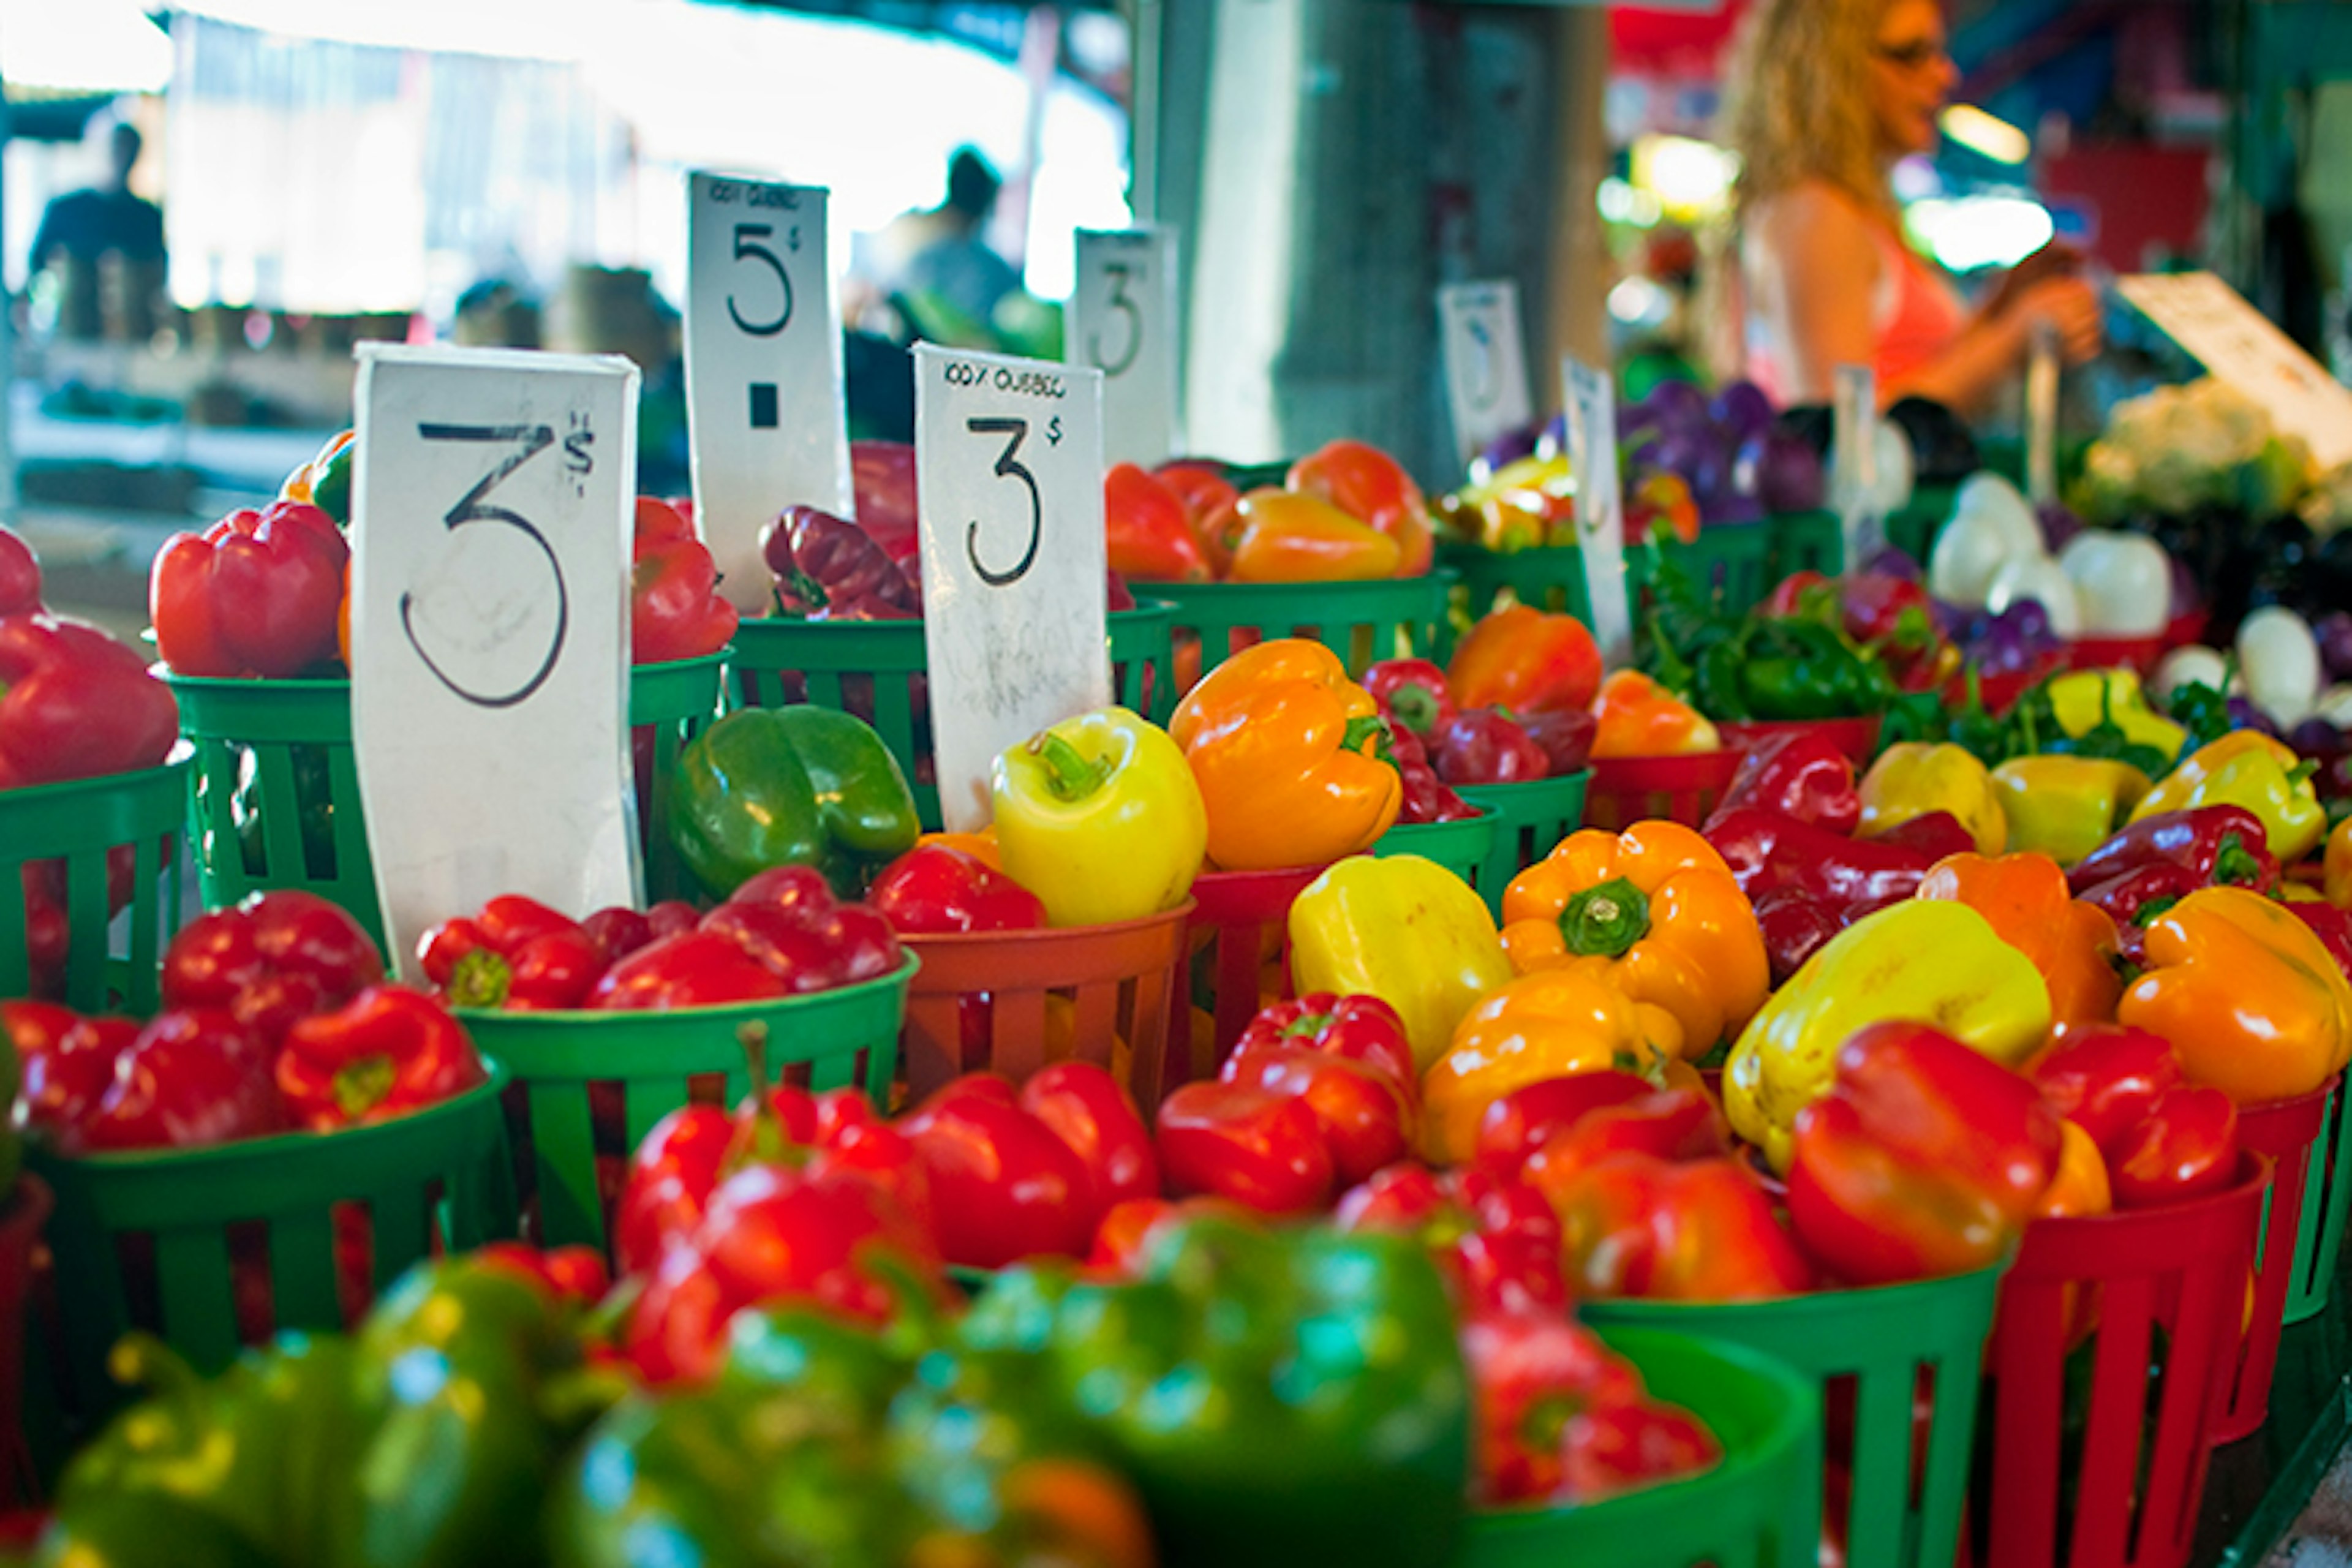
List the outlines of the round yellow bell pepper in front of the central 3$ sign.
{"type": "Polygon", "coordinates": [[[1176,741],[1124,708],[1037,731],[990,769],[1004,875],[1054,926],[1174,910],[1214,835],[1197,776],[1176,741]]]}

